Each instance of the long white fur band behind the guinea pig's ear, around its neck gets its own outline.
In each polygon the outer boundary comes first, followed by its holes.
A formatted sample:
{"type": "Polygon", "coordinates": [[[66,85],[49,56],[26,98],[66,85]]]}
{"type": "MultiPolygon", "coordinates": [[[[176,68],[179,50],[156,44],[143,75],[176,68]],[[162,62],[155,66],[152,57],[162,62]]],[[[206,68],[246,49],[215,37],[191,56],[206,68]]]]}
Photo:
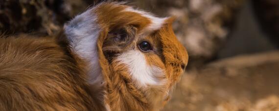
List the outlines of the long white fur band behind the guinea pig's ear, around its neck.
{"type": "Polygon", "coordinates": [[[64,29],[73,52],[89,62],[89,83],[101,87],[103,77],[97,52],[100,27],[96,23],[96,16],[92,10],[87,10],[76,16],[64,26],[64,29]]]}

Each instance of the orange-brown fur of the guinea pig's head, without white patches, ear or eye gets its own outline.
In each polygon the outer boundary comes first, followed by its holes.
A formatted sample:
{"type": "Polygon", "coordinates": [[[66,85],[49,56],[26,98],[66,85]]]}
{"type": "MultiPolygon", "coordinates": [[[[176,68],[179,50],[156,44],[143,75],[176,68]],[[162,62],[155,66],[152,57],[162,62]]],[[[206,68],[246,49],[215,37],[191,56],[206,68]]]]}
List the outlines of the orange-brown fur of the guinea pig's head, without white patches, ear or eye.
{"type": "MultiPolygon", "coordinates": [[[[96,12],[98,14],[97,16],[100,17],[99,22],[102,23],[102,33],[98,40],[98,50],[104,80],[107,83],[107,87],[105,88],[105,102],[110,106],[112,111],[154,111],[161,109],[164,101],[167,101],[169,98],[169,95],[167,95],[168,91],[179,80],[188,59],[185,48],[179,43],[172,31],[171,24],[173,19],[166,20],[161,30],[155,31],[153,35],[144,38],[156,45],[155,48],[158,48],[155,54],[149,53],[145,54],[145,56],[149,64],[165,69],[166,74],[163,78],[167,78],[167,84],[159,88],[139,89],[136,87],[135,81],[132,81],[129,76],[127,66],[117,63],[116,60],[109,62],[106,59],[106,53],[103,53],[103,42],[106,42],[107,35],[110,31],[125,28],[129,25],[136,26],[137,34],[142,34],[143,29],[150,24],[150,20],[137,13],[123,11],[125,8],[123,5],[112,5],[108,3],[102,4],[100,9],[102,8],[105,8],[106,11],[96,10],[96,12]],[[111,15],[111,17],[107,17],[106,15],[111,15]],[[113,20],[106,21],[107,19],[113,20]],[[163,51],[161,49],[162,47],[163,51]]],[[[132,43],[129,42],[125,48],[122,48],[120,51],[117,50],[115,53],[121,54],[127,50],[137,49],[136,44],[140,38],[133,39],[134,41],[132,43]]],[[[107,49],[108,46],[105,47],[107,49]]]]}

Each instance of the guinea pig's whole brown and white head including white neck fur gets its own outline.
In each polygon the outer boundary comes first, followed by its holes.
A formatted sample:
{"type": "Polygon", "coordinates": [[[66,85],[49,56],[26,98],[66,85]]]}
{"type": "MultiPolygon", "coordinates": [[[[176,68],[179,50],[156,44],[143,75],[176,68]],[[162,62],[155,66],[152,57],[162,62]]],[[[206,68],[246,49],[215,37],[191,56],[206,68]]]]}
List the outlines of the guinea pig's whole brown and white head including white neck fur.
{"type": "Polygon", "coordinates": [[[173,20],[109,2],[65,25],[72,51],[88,62],[89,84],[103,87],[108,109],[163,107],[188,61],[173,20]]]}

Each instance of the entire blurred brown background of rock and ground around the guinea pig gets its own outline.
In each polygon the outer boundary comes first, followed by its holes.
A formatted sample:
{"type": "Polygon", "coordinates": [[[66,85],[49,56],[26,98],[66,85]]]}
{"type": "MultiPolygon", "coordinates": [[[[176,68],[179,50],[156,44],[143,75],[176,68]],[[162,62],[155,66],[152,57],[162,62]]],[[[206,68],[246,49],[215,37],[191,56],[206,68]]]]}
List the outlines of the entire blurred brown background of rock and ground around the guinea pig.
{"type": "MultiPolygon", "coordinates": [[[[102,1],[0,0],[0,33],[55,35],[102,1]]],[[[177,17],[173,28],[189,53],[185,74],[163,111],[279,111],[279,0],[129,4],[177,17]]]]}

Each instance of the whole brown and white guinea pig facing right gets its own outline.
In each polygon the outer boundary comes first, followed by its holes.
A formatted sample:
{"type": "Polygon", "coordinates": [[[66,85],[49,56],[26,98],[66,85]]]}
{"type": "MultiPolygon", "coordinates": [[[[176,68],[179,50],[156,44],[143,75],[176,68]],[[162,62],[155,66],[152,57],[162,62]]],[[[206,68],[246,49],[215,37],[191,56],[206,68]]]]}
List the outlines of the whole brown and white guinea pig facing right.
{"type": "Polygon", "coordinates": [[[1,37],[1,111],[159,111],[188,61],[173,20],[103,2],[57,36],[1,37]]]}

